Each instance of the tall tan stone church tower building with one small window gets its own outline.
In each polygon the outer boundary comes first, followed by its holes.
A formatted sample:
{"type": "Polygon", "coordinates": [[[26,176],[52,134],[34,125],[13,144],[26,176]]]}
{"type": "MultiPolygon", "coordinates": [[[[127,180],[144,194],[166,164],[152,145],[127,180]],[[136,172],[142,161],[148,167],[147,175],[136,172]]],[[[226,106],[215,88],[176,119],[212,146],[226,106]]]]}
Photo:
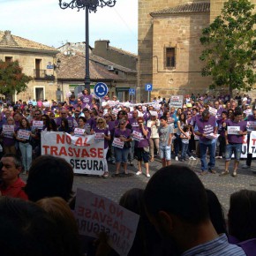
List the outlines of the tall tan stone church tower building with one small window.
{"type": "MultiPolygon", "coordinates": [[[[152,97],[209,93],[211,79],[201,76],[200,36],[220,14],[224,2],[139,0],[138,87],[142,100],[147,98],[147,83],[153,84],[152,97]]],[[[221,89],[215,92],[220,93],[221,89]]]]}

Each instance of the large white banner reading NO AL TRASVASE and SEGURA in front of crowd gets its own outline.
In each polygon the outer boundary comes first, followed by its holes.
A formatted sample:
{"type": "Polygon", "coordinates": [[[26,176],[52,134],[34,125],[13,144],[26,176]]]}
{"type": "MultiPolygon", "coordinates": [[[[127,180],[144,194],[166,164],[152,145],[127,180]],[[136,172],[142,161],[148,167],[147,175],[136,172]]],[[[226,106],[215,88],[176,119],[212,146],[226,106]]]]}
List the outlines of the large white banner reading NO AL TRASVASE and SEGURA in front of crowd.
{"type": "Polygon", "coordinates": [[[64,158],[74,173],[102,175],[104,143],[94,135],[72,136],[65,132],[41,132],[41,154],[64,158]]]}

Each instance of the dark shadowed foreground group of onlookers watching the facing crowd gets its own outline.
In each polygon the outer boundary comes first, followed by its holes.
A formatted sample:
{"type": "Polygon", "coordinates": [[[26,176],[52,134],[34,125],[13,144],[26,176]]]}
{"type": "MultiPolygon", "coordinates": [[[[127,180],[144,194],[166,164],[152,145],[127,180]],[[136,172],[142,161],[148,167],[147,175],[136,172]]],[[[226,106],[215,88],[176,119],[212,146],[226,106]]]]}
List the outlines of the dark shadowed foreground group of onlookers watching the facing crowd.
{"type": "MultiPolygon", "coordinates": [[[[17,154],[4,154],[1,164],[1,255],[118,255],[107,233],[97,233],[96,240],[79,234],[70,163],[42,155],[26,184],[19,178],[17,154]]],[[[145,189],[124,192],[119,205],[139,215],[129,256],[255,255],[256,192],[230,195],[227,222],[215,193],[186,165],[157,170],[145,189]]]]}

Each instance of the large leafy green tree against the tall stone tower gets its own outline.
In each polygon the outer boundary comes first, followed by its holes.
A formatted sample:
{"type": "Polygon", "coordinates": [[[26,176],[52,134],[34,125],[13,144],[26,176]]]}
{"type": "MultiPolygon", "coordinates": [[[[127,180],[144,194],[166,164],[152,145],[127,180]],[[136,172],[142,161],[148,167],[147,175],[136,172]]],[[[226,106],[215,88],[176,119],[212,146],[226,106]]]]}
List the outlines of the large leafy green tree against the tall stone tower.
{"type": "Polygon", "coordinates": [[[256,60],[256,14],[254,4],[248,0],[229,0],[221,15],[204,28],[200,42],[205,49],[200,60],[206,63],[202,76],[212,76],[211,89],[229,87],[251,90],[256,81],[252,61],[256,60]]]}

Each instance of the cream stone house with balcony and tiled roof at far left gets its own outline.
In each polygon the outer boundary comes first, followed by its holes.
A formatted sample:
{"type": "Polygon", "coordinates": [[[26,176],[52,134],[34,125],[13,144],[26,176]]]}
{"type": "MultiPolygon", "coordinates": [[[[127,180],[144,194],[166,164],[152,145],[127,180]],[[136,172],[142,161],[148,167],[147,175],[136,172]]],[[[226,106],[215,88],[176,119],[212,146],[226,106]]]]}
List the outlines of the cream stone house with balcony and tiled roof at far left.
{"type": "Polygon", "coordinates": [[[55,48],[12,35],[11,31],[0,31],[0,59],[18,60],[23,72],[33,78],[26,92],[13,95],[12,101],[27,101],[29,97],[56,100],[57,53],[55,48]]]}

